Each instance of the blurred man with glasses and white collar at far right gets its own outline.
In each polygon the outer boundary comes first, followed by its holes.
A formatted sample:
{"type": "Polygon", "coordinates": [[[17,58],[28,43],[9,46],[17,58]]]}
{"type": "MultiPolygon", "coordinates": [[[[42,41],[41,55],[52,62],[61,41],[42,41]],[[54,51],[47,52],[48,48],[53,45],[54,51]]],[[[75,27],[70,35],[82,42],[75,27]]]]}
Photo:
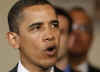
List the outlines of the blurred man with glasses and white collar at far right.
{"type": "Polygon", "coordinates": [[[68,59],[75,72],[100,72],[87,60],[88,51],[93,41],[93,22],[82,8],[73,8],[72,32],[68,44],[68,59]]]}

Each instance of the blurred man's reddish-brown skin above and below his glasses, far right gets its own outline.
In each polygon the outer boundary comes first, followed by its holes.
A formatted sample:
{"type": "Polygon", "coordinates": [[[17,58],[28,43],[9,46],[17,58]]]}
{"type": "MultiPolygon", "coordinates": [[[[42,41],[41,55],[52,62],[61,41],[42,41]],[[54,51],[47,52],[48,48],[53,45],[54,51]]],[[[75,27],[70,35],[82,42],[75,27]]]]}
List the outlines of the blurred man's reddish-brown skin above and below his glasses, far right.
{"type": "MultiPolygon", "coordinates": [[[[70,15],[73,19],[73,25],[90,25],[89,16],[85,12],[72,11],[70,15]]],[[[87,30],[72,30],[68,42],[69,62],[72,64],[72,67],[76,67],[86,61],[88,51],[92,44],[92,37],[93,35],[87,30]]]]}

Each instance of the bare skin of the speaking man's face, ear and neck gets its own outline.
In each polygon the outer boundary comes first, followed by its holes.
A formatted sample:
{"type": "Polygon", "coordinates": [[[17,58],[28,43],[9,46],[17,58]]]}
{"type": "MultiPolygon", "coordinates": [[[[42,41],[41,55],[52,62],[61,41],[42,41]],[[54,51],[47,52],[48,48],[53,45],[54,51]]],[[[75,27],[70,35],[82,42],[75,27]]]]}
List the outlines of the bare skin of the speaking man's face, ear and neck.
{"type": "Polygon", "coordinates": [[[50,5],[24,8],[19,21],[19,34],[8,32],[8,41],[18,48],[24,67],[30,72],[46,72],[55,64],[59,45],[59,29],[56,14],[50,5]],[[54,52],[47,48],[56,46],[54,52]]]}

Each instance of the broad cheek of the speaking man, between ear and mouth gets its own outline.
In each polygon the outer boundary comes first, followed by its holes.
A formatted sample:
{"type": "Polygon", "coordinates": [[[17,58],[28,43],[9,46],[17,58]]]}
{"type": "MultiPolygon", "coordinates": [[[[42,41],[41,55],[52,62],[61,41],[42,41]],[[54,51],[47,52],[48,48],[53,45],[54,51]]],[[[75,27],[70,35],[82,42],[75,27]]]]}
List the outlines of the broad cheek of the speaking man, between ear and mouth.
{"type": "Polygon", "coordinates": [[[40,39],[33,36],[23,37],[21,41],[21,53],[31,58],[39,58],[41,53],[40,39]],[[34,57],[33,57],[34,56],[34,57]]]}

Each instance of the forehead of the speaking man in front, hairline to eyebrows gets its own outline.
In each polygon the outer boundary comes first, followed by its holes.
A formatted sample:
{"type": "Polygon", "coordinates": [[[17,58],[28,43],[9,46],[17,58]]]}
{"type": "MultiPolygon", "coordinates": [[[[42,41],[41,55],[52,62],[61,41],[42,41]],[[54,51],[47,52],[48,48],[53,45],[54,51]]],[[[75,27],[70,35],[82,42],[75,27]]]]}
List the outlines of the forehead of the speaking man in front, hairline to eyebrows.
{"type": "Polygon", "coordinates": [[[56,19],[56,14],[52,6],[48,4],[44,5],[34,5],[25,7],[22,11],[22,21],[21,22],[37,22],[37,21],[50,21],[51,19],[56,19]]]}

